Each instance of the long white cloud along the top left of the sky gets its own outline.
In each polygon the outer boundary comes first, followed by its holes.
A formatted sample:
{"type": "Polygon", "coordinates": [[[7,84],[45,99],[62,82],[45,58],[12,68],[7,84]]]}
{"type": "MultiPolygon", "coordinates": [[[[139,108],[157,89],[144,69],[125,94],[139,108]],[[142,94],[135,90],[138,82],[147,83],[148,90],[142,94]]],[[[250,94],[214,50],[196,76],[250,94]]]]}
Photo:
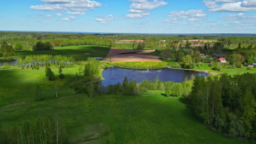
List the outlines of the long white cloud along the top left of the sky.
{"type": "Polygon", "coordinates": [[[101,7],[102,4],[90,0],[42,0],[43,5],[31,5],[30,9],[47,10],[47,11],[64,11],[64,10],[88,10],[101,7]]]}

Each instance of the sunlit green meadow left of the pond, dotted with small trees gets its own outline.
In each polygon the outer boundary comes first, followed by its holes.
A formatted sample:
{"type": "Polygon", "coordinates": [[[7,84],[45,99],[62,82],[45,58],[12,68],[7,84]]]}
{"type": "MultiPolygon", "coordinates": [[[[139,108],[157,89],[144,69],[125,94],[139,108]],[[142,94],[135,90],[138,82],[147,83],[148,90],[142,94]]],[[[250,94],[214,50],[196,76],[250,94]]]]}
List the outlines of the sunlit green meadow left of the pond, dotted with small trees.
{"type": "Polygon", "coordinates": [[[36,99],[36,88],[40,86],[45,99],[55,97],[55,85],[60,97],[72,95],[74,92],[69,88],[74,80],[74,75],[79,67],[64,68],[65,79],[59,78],[58,69],[53,69],[55,81],[49,81],[45,76],[44,68],[40,70],[23,69],[12,67],[0,70],[0,107],[36,99]]]}

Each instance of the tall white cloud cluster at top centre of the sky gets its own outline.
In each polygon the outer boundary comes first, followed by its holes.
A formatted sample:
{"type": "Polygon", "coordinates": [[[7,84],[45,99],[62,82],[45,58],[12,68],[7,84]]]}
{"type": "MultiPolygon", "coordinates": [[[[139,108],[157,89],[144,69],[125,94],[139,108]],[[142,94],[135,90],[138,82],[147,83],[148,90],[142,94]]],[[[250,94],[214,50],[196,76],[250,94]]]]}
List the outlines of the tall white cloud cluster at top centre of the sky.
{"type": "Polygon", "coordinates": [[[130,5],[129,13],[127,18],[138,19],[149,15],[149,11],[155,8],[162,7],[167,4],[164,0],[129,0],[132,2],[130,5]]]}

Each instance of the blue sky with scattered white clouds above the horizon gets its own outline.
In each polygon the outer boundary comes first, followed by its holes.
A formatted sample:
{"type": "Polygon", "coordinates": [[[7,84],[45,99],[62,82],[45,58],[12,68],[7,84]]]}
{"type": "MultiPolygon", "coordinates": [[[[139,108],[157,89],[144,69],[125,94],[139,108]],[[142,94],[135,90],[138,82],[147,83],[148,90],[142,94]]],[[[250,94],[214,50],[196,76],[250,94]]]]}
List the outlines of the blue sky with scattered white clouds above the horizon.
{"type": "Polygon", "coordinates": [[[2,0],[0,31],[256,33],[256,0],[2,0]]]}

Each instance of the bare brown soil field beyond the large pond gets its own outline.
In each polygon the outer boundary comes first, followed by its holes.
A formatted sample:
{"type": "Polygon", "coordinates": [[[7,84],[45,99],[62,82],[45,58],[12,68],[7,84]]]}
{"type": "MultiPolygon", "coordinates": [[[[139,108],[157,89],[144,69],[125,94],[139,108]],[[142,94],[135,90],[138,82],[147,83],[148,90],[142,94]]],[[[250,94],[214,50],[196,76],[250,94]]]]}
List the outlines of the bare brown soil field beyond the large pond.
{"type": "Polygon", "coordinates": [[[143,50],[143,51],[135,51],[129,49],[115,49],[111,48],[107,57],[104,58],[101,62],[162,62],[158,56],[150,56],[146,55],[148,53],[154,52],[154,50],[143,50]],[[134,53],[133,53],[134,52],[134,53]],[[129,53],[129,54],[120,54],[120,53],[129,53]]]}

